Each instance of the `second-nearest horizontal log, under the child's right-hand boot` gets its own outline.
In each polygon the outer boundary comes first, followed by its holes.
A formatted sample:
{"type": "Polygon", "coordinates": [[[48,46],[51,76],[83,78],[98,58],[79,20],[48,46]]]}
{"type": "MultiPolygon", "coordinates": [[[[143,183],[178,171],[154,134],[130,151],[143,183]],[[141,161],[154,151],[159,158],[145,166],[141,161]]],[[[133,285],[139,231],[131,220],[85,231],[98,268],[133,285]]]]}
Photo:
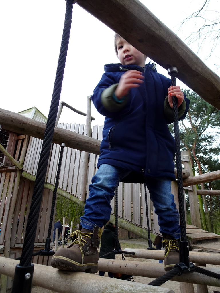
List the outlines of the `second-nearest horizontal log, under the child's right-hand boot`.
{"type": "MultiPolygon", "coordinates": [[[[131,260],[110,260],[99,258],[98,269],[104,272],[117,272],[121,274],[135,275],[148,278],[158,278],[165,274],[164,265],[160,263],[149,263],[143,261],[138,262],[131,260]]],[[[217,274],[220,273],[219,267],[206,267],[206,270],[214,271],[217,274]]],[[[181,276],[175,276],[171,279],[171,281],[220,287],[220,280],[204,276],[197,272],[191,272],[190,274],[182,274],[181,276]]]]}

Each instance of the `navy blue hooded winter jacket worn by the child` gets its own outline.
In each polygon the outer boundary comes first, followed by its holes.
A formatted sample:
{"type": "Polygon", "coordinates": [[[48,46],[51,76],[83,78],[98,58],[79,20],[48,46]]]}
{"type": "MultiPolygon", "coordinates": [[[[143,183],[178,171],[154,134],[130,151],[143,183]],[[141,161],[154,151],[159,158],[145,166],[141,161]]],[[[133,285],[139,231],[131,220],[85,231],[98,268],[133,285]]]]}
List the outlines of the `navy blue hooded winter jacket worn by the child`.
{"type": "MultiPolygon", "coordinates": [[[[175,179],[175,142],[167,126],[173,121],[164,113],[170,85],[171,80],[159,74],[155,64],[147,64],[145,71],[136,65],[105,65],[105,73],[92,96],[98,112],[106,116],[98,168],[105,163],[130,170],[123,182],[143,183],[144,176],[175,179]],[[131,69],[143,72],[144,83],[118,101],[113,93],[121,75],[131,69]]],[[[186,97],[185,101],[180,120],[189,108],[186,97]]]]}

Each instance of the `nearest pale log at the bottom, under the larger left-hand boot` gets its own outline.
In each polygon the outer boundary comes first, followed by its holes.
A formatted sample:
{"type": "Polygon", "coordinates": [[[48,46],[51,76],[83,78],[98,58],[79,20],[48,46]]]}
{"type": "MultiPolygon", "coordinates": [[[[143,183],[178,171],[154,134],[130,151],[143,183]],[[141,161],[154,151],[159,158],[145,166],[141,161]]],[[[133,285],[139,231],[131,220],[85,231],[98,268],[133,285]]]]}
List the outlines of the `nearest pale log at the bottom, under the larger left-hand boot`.
{"type": "MultiPolygon", "coordinates": [[[[0,273],[13,277],[18,260],[0,257],[0,273]]],[[[34,264],[33,285],[59,293],[174,293],[171,289],[101,277],[82,272],[57,270],[34,264]]]]}

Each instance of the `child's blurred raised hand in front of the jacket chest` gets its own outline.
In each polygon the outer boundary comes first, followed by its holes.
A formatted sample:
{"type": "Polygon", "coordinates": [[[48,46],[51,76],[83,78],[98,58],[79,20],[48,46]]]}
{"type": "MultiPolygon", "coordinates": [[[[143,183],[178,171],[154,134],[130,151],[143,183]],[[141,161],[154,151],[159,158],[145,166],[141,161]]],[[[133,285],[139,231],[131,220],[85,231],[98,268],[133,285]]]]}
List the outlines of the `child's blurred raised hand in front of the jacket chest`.
{"type": "Polygon", "coordinates": [[[128,70],[122,74],[119,85],[115,90],[115,95],[118,99],[121,99],[123,96],[126,96],[130,88],[137,88],[140,84],[143,83],[144,76],[141,74],[141,71],[137,70],[128,70]]]}

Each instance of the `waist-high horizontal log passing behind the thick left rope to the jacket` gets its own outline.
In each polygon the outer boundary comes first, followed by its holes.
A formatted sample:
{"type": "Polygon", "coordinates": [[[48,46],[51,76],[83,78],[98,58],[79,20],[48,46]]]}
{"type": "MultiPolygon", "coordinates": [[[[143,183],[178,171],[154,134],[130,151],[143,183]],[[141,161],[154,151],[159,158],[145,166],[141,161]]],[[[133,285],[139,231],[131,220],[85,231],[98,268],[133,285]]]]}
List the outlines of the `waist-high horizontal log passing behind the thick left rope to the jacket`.
{"type": "MultiPolygon", "coordinates": [[[[0,109],[0,121],[1,127],[5,130],[43,139],[46,127],[45,123],[4,109],[0,109]]],[[[99,140],[59,127],[55,127],[54,129],[53,143],[65,143],[66,147],[97,155],[100,154],[101,142],[99,140]]]]}

